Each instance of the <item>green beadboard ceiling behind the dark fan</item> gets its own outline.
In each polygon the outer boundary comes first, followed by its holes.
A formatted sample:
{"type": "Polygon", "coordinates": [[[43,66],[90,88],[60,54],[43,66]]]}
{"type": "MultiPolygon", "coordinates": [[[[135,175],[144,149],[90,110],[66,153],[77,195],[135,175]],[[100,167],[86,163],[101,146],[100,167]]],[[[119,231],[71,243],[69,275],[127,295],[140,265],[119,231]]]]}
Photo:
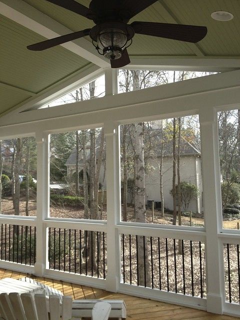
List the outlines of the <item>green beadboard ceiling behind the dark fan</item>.
{"type": "MultiPolygon", "coordinates": [[[[22,1],[22,0],[21,0],[22,1]]],[[[66,0],[67,1],[67,0],[66,0]]],[[[85,6],[89,0],[77,0],[85,6]]],[[[24,0],[72,31],[92,27],[91,20],[45,0],[24,0]]],[[[128,48],[131,56],[240,57],[240,0],[158,0],[134,20],[207,26],[207,36],[197,44],[135,34],[128,48]],[[215,21],[217,10],[229,11],[234,19],[215,21]]],[[[85,37],[89,40],[89,37],[85,37]]],[[[0,113],[29,98],[32,93],[64,79],[90,62],[62,46],[35,52],[26,45],[44,40],[36,32],[0,15],[0,113]],[[12,88],[11,88],[12,86],[12,88]],[[17,90],[20,88],[22,90],[17,90]]]]}

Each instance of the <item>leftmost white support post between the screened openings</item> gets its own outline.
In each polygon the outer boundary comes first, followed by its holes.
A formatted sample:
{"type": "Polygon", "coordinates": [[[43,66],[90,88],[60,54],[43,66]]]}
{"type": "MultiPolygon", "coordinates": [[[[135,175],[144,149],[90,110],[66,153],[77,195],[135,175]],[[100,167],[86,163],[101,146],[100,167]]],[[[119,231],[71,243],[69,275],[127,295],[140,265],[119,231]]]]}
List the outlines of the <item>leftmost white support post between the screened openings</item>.
{"type": "Polygon", "coordinates": [[[34,273],[42,276],[48,268],[47,231],[44,219],[49,216],[49,136],[36,132],[37,193],[36,193],[36,262],[34,273]]]}

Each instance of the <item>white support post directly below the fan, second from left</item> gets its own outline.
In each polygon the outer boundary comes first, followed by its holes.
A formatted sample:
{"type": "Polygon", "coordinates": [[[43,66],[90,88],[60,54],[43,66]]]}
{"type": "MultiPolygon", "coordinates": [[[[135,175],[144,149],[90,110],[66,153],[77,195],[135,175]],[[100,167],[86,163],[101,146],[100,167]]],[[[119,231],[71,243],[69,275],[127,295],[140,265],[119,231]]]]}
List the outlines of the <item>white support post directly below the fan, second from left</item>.
{"type": "Polygon", "coordinates": [[[106,138],[106,199],[107,199],[107,276],[106,289],[118,290],[120,281],[120,237],[116,224],[120,221],[120,157],[119,128],[104,123],[106,138]]]}

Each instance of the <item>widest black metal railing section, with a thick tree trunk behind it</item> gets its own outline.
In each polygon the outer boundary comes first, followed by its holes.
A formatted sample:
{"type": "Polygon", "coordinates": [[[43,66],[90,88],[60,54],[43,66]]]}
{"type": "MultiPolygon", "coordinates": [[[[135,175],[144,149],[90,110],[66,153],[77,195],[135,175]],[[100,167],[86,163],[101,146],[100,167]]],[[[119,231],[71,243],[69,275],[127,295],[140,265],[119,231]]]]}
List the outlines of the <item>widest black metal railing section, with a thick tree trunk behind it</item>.
{"type": "Polygon", "coordinates": [[[121,234],[122,282],[205,297],[201,241],[121,234]]]}

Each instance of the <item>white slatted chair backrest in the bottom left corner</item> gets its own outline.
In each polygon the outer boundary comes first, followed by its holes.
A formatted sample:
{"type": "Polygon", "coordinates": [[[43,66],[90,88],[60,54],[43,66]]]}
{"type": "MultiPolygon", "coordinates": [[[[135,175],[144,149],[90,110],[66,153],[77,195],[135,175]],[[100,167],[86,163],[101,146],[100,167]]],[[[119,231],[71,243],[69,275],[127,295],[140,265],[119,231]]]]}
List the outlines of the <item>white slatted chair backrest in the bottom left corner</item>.
{"type": "Polygon", "coordinates": [[[16,292],[0,293],[0,320],[62,320],[71,318],[72,299],[63,296],[62,306],[56,295],[49,299],[44,294],[35,294],[34,299],[30,293],[16,292]]]}

